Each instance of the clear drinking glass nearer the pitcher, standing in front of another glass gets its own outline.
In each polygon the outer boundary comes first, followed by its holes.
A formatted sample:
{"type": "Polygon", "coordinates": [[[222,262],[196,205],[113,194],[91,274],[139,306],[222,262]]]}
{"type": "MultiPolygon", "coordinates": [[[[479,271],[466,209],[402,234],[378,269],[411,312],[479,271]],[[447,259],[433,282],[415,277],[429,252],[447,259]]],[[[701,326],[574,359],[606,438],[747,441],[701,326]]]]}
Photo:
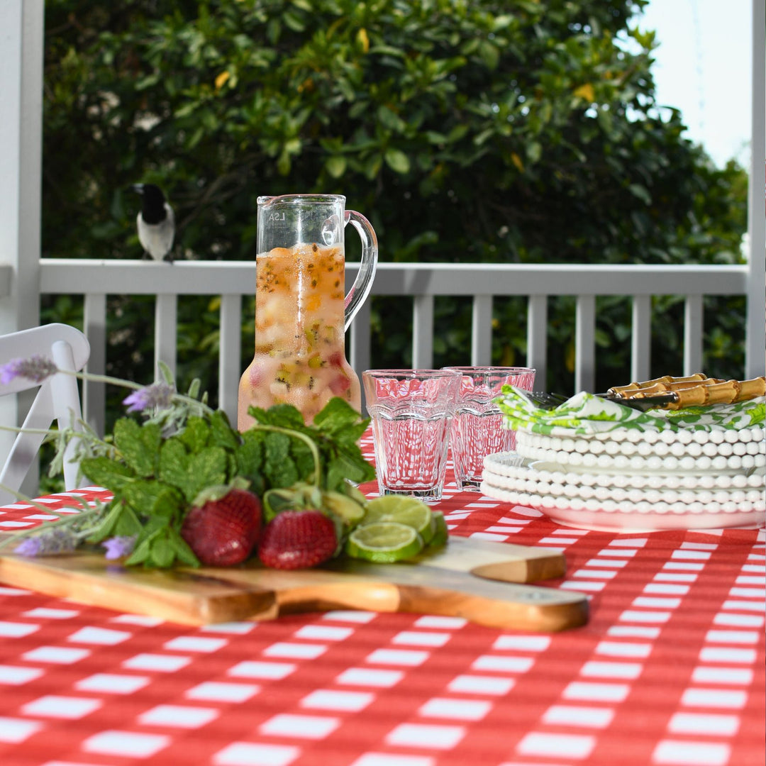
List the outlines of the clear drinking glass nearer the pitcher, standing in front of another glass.
{"type": "Polygon", "coordinates": [[[440,500],[460,373],[366,370],[362,381],[381,495],[440,500]]]}

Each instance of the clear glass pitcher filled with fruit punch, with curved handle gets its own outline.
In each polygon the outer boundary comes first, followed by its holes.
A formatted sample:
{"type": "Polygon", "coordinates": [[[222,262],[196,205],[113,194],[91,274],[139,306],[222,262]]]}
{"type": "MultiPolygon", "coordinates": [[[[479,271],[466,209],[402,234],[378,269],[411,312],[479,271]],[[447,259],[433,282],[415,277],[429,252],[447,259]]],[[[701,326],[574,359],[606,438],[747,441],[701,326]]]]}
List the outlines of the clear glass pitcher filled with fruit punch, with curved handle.
{"type": "Polygon", "coordinates": [[[250,404],[293,404],[306,423],[334,396],[362,409],[359,379],[345,359],[345,330],[372,288],[378,239],[342,195],[258,198],[255,355],[240,380],[237,428],[250,404]],[[362,259],[345,295],[344,232],[362,239],[362,259]]]}

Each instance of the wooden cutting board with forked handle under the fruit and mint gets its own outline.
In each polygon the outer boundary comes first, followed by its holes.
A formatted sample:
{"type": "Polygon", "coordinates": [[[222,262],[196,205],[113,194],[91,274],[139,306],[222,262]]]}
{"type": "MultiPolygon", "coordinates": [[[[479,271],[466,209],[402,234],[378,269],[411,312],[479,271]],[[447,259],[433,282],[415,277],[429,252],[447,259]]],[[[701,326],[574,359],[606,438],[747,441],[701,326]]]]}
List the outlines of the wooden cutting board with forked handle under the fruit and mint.
{"type": "Polygon", "coordinates": [[[457,616],[487,627],[564,630],[588,620],[587,597],[526,584],[564,572],[560,552],[461,537],[406,564],[343,559],[297,571],[257,562],[143,570],[91,553],[0,555],[4,583],[190,625],[361,609],[457,616]]]}

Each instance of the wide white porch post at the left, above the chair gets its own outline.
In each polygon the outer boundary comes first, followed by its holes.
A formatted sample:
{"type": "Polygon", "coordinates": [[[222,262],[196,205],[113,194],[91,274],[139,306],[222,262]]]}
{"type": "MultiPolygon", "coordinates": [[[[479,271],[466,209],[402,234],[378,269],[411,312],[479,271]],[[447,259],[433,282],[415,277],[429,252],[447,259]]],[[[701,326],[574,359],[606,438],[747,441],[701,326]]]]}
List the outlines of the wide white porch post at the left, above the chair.
{"type": "MultiPolygon", "coordinates": [[[[12,269],[0,333],[40,323],[43,32],[44,0],[0,2],[0,264],[12,269]]],[[[14,399],[3,397],[0,423],[23,419],[14,399]]],[[[0,459],[9,446],[0,437],[0,459]]]]}

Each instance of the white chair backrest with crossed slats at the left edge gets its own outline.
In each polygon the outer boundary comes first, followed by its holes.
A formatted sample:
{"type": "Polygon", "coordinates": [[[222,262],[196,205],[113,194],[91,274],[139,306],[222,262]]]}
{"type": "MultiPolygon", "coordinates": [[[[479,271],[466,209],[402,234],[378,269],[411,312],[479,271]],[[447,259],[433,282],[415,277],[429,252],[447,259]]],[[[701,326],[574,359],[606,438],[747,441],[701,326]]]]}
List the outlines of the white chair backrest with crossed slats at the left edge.
{"type": "MultiPolygon", "coordinates": [[[[34,355],[52,359],[60,370],[79,372],[90,356],[90,344],[80,330],[63,324],[32,327],[0,336],[0,364],[34,355]]],[[[35,383],[17,376],[5,385],[0,384],[0,396],[32,388],[38,388],[38,393],[25,418],[24,429],[47,430],[53,421],[57,421],[59,428],[72,426],[75,430],[82,430],[77,378],[59,372],[42,383],[35,383]]],[[[44,433],[29,433],[26,430],[17,435],[0,471],[0,484],[11,490],[21,488],[25,476],[38,459],[43,439],[44,433]]],[[[64,452],[65,489],[75,489],[79,478],[80,466],[74,460],[74,447],[74,441],[70,440],[64,452]]],[[[15,495],[8,489],[0,488],[0,503],[15,500],[15,495]]]]}

